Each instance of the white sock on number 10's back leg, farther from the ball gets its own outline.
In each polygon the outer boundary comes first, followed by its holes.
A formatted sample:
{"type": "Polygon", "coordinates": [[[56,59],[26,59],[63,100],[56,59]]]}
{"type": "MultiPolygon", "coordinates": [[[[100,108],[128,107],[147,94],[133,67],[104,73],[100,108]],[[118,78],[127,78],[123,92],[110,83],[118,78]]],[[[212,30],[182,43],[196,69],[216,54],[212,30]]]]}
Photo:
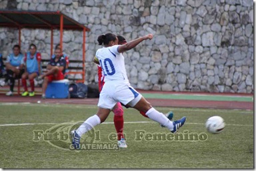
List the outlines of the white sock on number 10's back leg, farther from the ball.
{"type": "Polygon", "coordinates": [[[89,130],[91,130],[94,126],[96,126],[97,124],[101,123],[101,119],[99,118],[99,116],[97,116],[97,114],[87,118],[87,120],[85,120],[85,122],[83,122],[83,124],[81,124],[81,126],[79,126],[79,128],[77,129],[77,134],[81,137],[82,134],[85,134],[85,132],[88,132],[89,130]]]}

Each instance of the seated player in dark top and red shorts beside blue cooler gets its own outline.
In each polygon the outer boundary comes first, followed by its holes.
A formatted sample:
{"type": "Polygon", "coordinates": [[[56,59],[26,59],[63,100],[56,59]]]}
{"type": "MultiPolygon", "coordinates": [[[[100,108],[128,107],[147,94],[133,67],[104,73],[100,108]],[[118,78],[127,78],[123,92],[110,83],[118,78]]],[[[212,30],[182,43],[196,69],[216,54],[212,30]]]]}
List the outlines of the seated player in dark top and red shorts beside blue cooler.
{"type": "Polygon", "coordinates": [[[64,79],[65,74],[65,67],[66,67],[66,61],[65,58],[61,55],[61,49],[57,48],[54,51],[55,58],[51,59],[49,64],[47,65],[47,73],[39,76],[40,79],[43,80],[43,94],[42,98],[45,98],[45,91],[47,88],[48,83],[51,83],[51,81],[59,81],[64,79]]]}

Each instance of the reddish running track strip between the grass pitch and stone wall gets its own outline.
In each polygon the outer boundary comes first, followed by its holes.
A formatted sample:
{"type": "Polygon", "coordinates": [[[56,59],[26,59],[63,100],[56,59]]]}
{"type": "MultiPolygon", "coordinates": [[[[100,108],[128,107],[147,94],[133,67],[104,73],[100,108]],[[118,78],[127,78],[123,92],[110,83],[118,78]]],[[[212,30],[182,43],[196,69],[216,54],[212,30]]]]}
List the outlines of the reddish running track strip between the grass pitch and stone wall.
{"type": "MultiPolygon", "coordinates": [[[[163,92],[162,92],[163,93],[163,92]]],[[[237,94],[234,94],[237,95],[237,94]]],[[[241,95],[241,94],[239,94],[241,95]]],[[[250,94],[251,95],[251,94],[250,94]]],[[[31,102],[37,103],[40,100],[43,104],[92,104],[97,105],[98,98],[65,98],[65,99],[41,99],[41,96],[23,97],[23,96],[5,96],[0,94],[0,102],[31,102]]],[[[211,101],[211,100],[172,100],[147,98],[152,106],[163,107],[180,107],[180,108],[219,108],[219,109],[243,109],[253,110],[253,102],[236,102],[236,101],[211,101]]]]}

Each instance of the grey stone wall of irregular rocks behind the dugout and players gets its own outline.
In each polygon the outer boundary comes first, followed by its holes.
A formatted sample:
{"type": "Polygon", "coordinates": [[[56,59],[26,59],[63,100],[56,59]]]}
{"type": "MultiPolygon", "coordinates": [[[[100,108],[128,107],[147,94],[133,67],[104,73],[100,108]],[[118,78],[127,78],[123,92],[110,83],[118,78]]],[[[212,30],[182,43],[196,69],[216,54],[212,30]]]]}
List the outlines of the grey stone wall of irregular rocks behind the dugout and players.
{"type": "MultiPolygon", "coordinates": [[[[124,53],[135,88],[167,91],[253,92],[253,1],[251,0],[16,0],[1,9],[62,11],[91,29],[86,37],[86,83],[97,83],[91,61],[97,37],[112,32],[127,41],[153,33],[124,53]]],[[[18,33],[0,28],[0,52],[7,55],[18,33]]],[[[22,48],[35,43],[49,59],[50,32],[22,30],[22,48]]],[[[54,32],[59,43],[59,32],[54,32]]],[[[82,33],[65,31],[65,53],[81,59],[82,33]]],[[[81,76],[75,76],[81,77],[81,76]]]]}

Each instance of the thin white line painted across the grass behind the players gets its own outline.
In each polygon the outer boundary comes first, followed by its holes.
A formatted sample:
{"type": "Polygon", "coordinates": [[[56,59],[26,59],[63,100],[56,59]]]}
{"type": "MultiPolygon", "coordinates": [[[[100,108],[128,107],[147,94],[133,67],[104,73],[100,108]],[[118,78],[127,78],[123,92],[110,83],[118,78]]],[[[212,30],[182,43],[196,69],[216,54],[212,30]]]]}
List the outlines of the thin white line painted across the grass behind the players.
{"type": "MultiPolygon", "coordinates": [[[[68,123],[68,122],[67,122],[68,123]]],[[[70,122],[72,123],[72,122],[70,122]]],[[[74,124],[77,122],[74,122],[74,124]]],[[[113,124],[114,122],[103,122],[102,124],[113,124]]],[[[145,124],[145,123],[156,123],[150,121],[135,121],[125,122],[125,124],[145,124]]],[[[50,124],[63,124],[63,123],[23,123],[23,124],[0,124],[0,126],[26,126],[26,125],[50,125],[50,124]]],[[[186,123],[186,124],[203,124],[204,123],[186,123]]],[[[253,126],[253,124],[226,124],[226,126],[253,126]]]]}

